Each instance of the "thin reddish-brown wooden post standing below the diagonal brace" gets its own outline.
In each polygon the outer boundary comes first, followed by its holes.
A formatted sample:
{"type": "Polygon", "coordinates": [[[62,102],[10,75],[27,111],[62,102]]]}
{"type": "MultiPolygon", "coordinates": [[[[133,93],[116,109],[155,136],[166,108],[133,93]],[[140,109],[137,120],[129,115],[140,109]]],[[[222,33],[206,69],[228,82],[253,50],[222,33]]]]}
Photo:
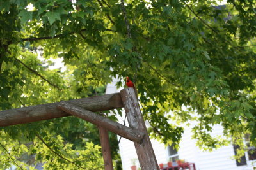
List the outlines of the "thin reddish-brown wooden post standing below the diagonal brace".
{"type": "Polygon", "coordinates": [[[100,143],[102,148],[102,155],[103,155],[105,170],[113,170],[108,131],[100,126],[98,126],[98,128],[100,133],[100,143]]]}

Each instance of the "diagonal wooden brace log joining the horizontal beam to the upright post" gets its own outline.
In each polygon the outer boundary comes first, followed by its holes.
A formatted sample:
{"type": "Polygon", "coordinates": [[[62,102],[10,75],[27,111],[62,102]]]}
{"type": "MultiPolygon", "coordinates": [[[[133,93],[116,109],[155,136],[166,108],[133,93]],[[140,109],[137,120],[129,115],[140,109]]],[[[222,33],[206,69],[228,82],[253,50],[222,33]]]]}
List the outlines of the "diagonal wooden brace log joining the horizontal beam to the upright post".
{"type": "Polygon", "coordinates": [[[92,124],[104,127],[105,129],[108,129],[108,131],[123,136],[124,138],[131,141],[135,141],[136,143],[140,143],[141,139],[143,139],[143,137],[145,136],[143,132],[136,131],[130,127],[126,127],[125,125],[114,122],[109,118],[102,117],[99,114],[93,113],[89,110],[85,110],[79,106],[75,106],[74,104],[69,104],[67,102],[61,101],[58,105],[58,108],[71,115],[82,118],[87,122],[91,122],[92,124]]]}

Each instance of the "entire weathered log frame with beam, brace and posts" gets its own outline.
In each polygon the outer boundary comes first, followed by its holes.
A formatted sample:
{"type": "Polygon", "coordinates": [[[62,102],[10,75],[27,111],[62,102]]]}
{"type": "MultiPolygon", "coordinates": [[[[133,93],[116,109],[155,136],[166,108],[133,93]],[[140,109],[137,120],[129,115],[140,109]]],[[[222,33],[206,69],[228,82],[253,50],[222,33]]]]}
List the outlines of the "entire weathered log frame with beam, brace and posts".
{"type": "Polygon", "coordinates": [[[100,143],[106,170],[113,169],[108,143],[108,131],[134,142],[141,169],[159,169],[145,122],[141,115],[138,99],[132,88],[123,89],[120,93],[106,94],[104,96],[93,96],[84,99],[0,111],[0,127],[71,115],[83,118],[99,126],[100,143]],[[122,107],[125,108],[129,127],[93,113],[93,111],[111,110],[122,107]]]}

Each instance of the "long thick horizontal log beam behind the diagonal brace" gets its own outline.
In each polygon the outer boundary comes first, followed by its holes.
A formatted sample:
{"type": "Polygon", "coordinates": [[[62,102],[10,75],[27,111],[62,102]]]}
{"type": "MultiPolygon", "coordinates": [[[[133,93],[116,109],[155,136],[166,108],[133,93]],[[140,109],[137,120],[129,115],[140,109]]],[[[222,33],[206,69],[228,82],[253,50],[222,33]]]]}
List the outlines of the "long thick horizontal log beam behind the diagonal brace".
{"type": "MultiPolygon", "coordinates": [[[[67,102],[90,111],[103,111],[123,107],[119,93],[74,99],[67,102]]],[[[68,113],[58,110],[58,104],[49,103],[0,111],[0,127],[70,116],[68,113]]]]}

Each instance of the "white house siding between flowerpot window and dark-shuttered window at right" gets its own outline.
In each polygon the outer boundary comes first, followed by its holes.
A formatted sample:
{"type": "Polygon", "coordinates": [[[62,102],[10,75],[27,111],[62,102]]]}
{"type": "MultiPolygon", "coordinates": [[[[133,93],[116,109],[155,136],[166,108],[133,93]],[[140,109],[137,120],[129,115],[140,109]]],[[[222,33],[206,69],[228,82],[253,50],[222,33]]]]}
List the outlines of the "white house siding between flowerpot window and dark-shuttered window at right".
{"type": "MultiPolygon", "coordinates": [[[[213,127],[212,135],[221,135],[223,128],[220,125],[213,127]]],[[[223,146],[212,152],[203,152],[196,146],[195,140],[191,139],[191,128],[185,127],[180,141],[179,158],[188,162],[195,162],[196,169],[200,170],[245,170],[252,166],[237,166],[232,145],[223,146]]]]}

